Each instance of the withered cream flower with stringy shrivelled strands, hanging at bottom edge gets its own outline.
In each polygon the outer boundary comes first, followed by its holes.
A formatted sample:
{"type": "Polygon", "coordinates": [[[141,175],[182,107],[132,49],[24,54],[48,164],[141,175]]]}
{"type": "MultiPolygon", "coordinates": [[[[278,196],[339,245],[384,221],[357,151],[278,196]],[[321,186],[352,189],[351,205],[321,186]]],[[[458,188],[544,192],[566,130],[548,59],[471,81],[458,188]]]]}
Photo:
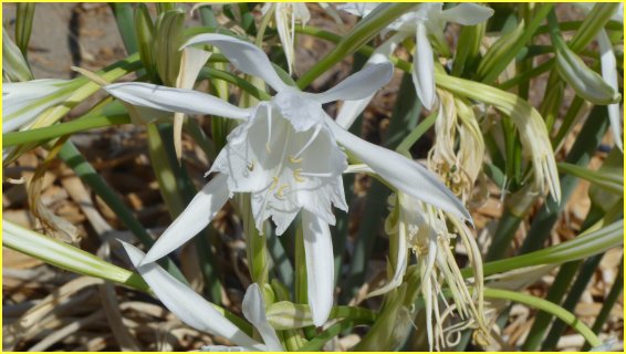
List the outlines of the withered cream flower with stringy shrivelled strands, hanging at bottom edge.
{"type": "Polygon", "coordinates": [[[420,271],[419,291],[426,306],[426,332],[430,350],[439,351],[447,344],[448,335],[463,329],[461,324],[445,327],[446,317],[453,311],[462,323],[478,327],[483,342],[489,341],[486,312],[482,299],[482,260],[478,244],[469,228],[457,217],[424,205],[421,201],[397,192],[392,196],[393,211],[385,222],[388,235],[397,237],[397,253],[394,274],[387,284],[368,294],[379,295],[397,288],[407,269],[407,249],[417,258],[420,271]],[[446,221],[455,232],[450,232],[446,221]],[[451,240],[459,237],[459,244],[468,250],[474,272],[474,292],[469,291],[451,250],[451,240]],[[445,299],[441,288],[446,285],[452,295],[452,303],[445,299]],[[439,300],[442,300],[441,302],[439,300]],[[445,309],[440,309],[444,304],[445,309]]]}

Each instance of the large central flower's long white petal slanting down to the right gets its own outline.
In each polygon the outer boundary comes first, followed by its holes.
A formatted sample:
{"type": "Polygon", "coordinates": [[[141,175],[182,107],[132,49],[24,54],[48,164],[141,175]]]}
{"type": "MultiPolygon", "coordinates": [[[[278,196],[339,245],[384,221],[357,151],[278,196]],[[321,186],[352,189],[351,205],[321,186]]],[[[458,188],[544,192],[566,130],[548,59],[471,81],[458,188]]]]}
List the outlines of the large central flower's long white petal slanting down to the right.
{"type": "Polygon", "coordinates": [[[371,144],[327,119],[335,138],[356,157],[369,165],[387,183],[421,201],[461,219],[471,216],[462,202],[431,171],[403,155],[371,144]]]}

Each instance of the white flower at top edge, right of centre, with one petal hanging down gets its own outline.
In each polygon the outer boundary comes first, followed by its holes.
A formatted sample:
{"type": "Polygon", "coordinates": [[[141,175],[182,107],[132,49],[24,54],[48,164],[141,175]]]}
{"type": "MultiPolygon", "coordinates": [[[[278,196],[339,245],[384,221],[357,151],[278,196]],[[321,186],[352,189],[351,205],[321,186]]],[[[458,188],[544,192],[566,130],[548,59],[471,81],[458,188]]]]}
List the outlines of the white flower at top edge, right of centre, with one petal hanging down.
{"type": "MultiPolygon", "coordinates": [[[[348,3],[341,9],[364,17],[376,6],[377,3],[348,3]]],[[[472,25],[486,21],[493,14],[492,9],[474,3],[461,3],[448,10],[442,8],[441,2],[422,3],[417,10],[405,13],[387,27],[397,32],[393,39],[395,43],[415,35],[413,81],[417,95],[427,110],[432,110],[437,103],[434,53],[428,35],[445,43],[444,30],[447,22],[472,25]]]]}

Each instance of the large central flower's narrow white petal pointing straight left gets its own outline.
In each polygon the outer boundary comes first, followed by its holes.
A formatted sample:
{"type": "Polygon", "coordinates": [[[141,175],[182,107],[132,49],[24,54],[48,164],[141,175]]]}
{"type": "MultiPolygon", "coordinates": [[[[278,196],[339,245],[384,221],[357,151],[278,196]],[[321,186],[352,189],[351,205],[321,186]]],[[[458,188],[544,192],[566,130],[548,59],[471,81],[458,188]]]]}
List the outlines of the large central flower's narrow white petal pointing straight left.
{"type": "Polygon", "coordinates": [[[186,114],[209,114],[233,119],[247,119],[251,110],[231,105],[218,97],[192,90],[173,88],[132,82],[104,86],[113,96],[143,107],[186,114]]]}

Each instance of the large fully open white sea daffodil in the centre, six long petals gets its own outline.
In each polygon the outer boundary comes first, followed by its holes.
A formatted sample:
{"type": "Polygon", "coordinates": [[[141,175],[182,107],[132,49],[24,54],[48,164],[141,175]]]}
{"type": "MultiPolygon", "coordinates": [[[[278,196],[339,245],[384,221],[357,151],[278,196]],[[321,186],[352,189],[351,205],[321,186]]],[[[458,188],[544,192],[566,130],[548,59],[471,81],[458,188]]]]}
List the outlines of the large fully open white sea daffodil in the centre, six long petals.
{"type": "Polygon", "coordinates": [[[369,144],[337,125],[322,104],[362,100],[386,84],[393,65],[371,65],[335,87],[301,92],[283,83],[268,56],[251,43],[221,34],[200,34],[186,46],[217,46],[243,73],[261,77],[277,94],[251,108],[236,107],[215,96],[146,83],[106,86],[112,95],[134,105],[187,114],[241,119],[228,136],[211,171],[218,173],[149,250],[144,263],[174,251],[202,230],[232,192],[250,192],[257,228],[272,218],[281,235],[302,211],[307,293],[313,322],[322,325],[333,304],[333,248],[328,225],[332,206],[347,209],[342,174],[347,167],[344,146],[393,187],[470,219],[461,202],[426,168],[406,157],[369,144]]]}

